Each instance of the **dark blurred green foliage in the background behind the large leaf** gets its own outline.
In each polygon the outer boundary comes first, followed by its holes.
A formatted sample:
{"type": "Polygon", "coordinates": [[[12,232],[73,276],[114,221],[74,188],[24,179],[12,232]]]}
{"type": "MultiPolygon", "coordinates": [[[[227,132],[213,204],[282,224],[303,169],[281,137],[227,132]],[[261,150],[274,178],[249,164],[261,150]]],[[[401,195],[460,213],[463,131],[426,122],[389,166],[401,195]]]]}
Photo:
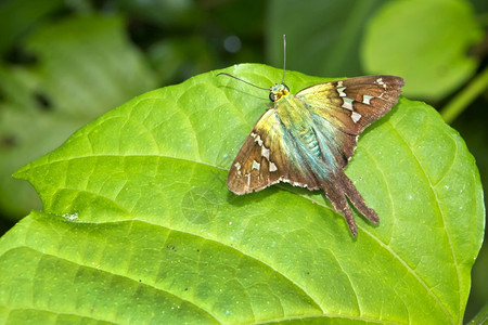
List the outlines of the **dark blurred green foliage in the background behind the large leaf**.
{"type": "MultiPolygon", "coordinates": [[[[485,0],[5,0],[0,3],[0,217],[40,202],[11,174],[157,87],[235,63],[323,77],[398,74],[465,139],[488,183],[485,0]],[[442,108],[446,107],[446,110],[442,108]]],[[[267,84],[262,84],[267,87],[267,84]]],[[[488,300],[488,252],[465,320],[488,300]]]]}

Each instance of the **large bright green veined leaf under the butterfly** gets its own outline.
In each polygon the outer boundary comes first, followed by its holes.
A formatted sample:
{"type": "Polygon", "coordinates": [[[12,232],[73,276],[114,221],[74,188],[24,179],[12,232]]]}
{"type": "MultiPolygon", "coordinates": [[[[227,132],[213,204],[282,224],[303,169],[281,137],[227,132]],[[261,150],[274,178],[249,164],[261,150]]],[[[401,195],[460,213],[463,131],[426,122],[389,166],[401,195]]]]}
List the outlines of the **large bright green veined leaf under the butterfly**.
{"type": "MultiPolygon", "coordinates": [[[[264,65],[226,69],[260,86],[264,65]]],[[[323,78],[287,73],[293,92],[323,78]]],[[[43,202],[0,240],[0,320],[461,324],[483,192],[459,134],[401,99],[348,176],[380,217],[351,237],[319,192],[235,196],[267,93],[208,73],[139,96],[22,168],[43,202]]]]}

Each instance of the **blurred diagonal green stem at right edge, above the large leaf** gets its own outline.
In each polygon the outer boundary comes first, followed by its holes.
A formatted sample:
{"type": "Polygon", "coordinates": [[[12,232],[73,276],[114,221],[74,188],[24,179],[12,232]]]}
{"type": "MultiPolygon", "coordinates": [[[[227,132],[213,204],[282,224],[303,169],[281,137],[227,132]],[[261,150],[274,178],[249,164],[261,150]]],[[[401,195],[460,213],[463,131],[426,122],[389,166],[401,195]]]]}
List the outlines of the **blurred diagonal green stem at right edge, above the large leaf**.
{"type": "Polygon", "coordinates": [[[488,88],[488,67],[476,76],[440,112],[444,120],[451,123],[485,89],[488,88]]]}

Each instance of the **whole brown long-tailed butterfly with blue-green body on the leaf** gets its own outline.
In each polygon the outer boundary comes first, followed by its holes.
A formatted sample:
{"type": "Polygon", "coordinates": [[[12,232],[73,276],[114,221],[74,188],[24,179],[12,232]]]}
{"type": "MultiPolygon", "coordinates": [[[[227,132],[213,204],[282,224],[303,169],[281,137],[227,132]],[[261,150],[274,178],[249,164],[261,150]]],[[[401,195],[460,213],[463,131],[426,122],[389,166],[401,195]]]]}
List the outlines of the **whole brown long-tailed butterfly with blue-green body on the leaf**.
{"type": "MultiPolygon", "coordinates": [[[[380,218],[344,169],[359,135],[395,106],[404,81],[395,76],[363,76],[318,83],[292,94],[284,72],[281,83],[269,88],[273,105],[239,151],[227,185],[237,195],[279,182],[322,190],[356,236],[347,198],[369,221],[377,223],[380,218]]],[[[226,73],[219,75],[252,84],[226,73]]]]}

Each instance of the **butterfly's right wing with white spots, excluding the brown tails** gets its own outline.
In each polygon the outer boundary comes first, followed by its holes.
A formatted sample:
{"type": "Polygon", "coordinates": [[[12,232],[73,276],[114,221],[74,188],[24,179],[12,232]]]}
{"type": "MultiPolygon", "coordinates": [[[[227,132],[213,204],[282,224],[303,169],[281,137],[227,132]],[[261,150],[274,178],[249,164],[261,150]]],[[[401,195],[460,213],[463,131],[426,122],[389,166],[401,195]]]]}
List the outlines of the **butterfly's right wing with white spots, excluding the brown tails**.
{"type": "Polygon", "coordinates": [[[395,76],[363,76],[323,82],[296,94],[312,113],[319,132],[334,139],[344,168],[358,135],[398,102],[404,81],[395,76]]]}

